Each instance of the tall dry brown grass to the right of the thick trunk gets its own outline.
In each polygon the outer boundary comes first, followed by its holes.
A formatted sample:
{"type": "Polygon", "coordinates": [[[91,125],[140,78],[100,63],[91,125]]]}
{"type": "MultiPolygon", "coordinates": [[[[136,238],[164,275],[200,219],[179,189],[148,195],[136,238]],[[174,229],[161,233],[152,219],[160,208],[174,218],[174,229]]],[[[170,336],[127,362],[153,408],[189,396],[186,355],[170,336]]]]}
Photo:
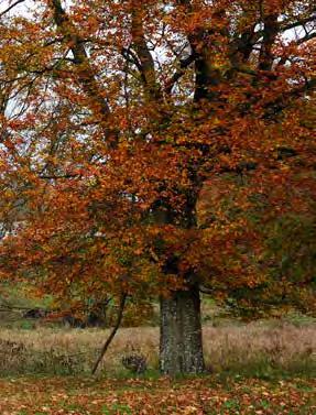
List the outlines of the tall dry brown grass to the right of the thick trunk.
{"type": "Polygon", "coordinates": [[[315,326],[250,324],[208,327],[204,341],[206,361],[216,371],[266,365],[283,370],[299,369],[316,357],[315,326]]]}

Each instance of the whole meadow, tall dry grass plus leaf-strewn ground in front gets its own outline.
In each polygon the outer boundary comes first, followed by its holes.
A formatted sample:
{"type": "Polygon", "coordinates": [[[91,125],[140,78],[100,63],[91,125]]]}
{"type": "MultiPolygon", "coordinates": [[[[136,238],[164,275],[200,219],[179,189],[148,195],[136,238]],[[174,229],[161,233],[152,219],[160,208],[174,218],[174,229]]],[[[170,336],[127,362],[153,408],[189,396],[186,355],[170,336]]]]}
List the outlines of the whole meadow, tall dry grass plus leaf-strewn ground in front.
{"type": "Polygon", "coordinates": [[[313,323],[221,323],[204,327],[208,373],[159,375],[159,329],[121,328],[90,375],[109,330],[37,327],[0,330],[1,415],[316,414],[313,323]],[[121,360],[137,352],[148,371],[121,360]]]}

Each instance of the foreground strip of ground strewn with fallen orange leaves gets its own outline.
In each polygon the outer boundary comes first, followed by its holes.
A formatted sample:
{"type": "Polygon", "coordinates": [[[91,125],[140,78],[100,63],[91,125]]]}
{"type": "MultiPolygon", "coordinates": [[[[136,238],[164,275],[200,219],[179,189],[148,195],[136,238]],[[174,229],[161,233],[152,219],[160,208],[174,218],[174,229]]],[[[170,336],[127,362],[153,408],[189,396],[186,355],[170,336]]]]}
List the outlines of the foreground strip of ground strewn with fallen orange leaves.
{"type": "Polygon", "coordinates": [[[2,415],[316,414],[316,381],[207,375],[171,381],[22,378],[0,381],[2,415]]]}

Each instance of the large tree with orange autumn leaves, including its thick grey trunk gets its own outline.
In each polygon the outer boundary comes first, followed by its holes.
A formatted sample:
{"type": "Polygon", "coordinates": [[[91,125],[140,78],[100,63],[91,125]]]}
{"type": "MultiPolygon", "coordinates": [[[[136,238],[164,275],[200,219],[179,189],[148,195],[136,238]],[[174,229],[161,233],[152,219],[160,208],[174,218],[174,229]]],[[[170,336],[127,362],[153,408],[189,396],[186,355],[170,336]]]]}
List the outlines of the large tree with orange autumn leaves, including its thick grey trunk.
{"type": "Polygon", "coordinates": [[[314,2],[18,4],[1,11],[2,221],[24,214],[3,275],[73,302],[160,295],[162,372],[203,372],[201,286],[243,306],[297,294],[261,230],[313,208],[314,2]]]}

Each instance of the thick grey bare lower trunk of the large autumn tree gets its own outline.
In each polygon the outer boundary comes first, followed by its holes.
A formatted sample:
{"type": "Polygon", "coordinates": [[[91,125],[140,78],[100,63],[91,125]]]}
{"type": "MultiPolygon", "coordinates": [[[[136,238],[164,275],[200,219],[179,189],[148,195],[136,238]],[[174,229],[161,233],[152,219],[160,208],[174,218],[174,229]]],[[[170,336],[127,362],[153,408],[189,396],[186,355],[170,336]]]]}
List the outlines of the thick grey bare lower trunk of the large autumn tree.
{"type": "Polygon", "coordinates": [[[161,299],[160,367],[170,375],[205,370],[197,286],[161,299]]]}

